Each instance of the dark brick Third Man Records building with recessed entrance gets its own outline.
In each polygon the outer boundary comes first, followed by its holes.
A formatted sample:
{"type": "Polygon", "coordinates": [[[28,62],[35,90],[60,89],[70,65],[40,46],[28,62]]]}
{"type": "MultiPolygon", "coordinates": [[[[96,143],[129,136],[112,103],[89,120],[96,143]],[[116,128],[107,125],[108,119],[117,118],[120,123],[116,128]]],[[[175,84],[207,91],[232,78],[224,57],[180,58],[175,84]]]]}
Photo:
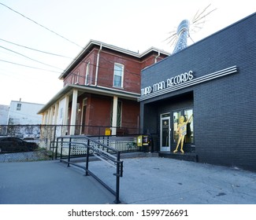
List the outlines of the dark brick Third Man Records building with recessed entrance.
{"type": "Polygon", "coordinates": [[[144,69],[141,84],[142,131],[162,156],[256,170],[256,13],[144,69]]]}

